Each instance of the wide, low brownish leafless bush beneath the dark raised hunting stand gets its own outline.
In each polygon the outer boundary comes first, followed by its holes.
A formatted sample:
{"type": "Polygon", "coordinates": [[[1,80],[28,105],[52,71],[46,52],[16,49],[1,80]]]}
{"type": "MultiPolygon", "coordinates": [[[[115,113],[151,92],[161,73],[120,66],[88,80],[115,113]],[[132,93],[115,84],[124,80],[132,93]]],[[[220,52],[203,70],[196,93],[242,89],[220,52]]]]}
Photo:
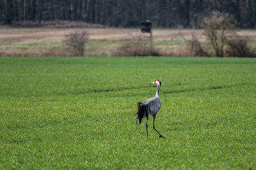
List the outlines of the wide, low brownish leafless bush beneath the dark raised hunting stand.
{"type": "Polygon", "coordinates": [[[126,43],[111,52],[112,56],[159,56],[159,50],[141,34],[130,35],[126,43]]]}

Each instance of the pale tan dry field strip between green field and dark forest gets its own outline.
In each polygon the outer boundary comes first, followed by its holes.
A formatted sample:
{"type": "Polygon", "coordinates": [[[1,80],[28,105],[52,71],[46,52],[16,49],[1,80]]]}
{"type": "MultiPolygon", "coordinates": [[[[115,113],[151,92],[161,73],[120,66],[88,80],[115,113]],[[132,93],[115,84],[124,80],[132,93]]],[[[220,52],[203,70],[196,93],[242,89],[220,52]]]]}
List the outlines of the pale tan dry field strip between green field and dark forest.
{"type": "MultiPolygon", "coordinates": [[[[136,43],[141,34],[140,29],[49,29],[49,28],[13,28],[0,27],[0,56],[15,57],[70,57],[72,53],[64,45],[65,35],[74,31],[86,30],[89,41],[86,43],[86,56],[116,56],[120,46],[127,42],[136,43]],[[135,39],[134,39],[135,38],[135,39]]],[[[206,45],[206,38],[199,29],[154,29],[154,46],[164,56],[188,56],[188,44],[193,34],[206,45]],[[186,52],[186,49],[188,52],[186,52]],[[180,55],[182,54],[182,55],[180,55]]],[[[256,31],[241,30],[239,36],[248,40],[252,50],[256,49],[256,31]]],[[[208,48],[207,48],[208,49],[208,48]]]]}

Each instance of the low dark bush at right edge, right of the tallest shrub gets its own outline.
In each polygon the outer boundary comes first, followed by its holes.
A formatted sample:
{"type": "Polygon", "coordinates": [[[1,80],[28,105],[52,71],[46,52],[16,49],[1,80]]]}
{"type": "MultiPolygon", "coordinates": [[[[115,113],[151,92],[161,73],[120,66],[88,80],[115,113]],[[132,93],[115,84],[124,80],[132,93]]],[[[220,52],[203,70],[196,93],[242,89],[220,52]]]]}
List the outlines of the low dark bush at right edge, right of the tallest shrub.
{"type": "Polygon", "coordinates": [[[238,37],[227,41],[228,57],[256,57],[256,53],[250,50],[246,39],[238,37]]]}

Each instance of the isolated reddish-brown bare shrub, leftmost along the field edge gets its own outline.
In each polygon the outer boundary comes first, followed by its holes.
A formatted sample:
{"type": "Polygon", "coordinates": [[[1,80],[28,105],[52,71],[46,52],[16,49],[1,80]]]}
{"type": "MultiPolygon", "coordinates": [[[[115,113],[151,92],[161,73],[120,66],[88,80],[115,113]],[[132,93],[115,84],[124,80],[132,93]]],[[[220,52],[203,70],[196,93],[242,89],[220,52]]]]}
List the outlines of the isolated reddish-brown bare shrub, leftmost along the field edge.
{"type": "Polygon", "coordinates": [[[84,56],[85,43],[88,39],[87,31],[74,31],[65,36],[63,43],[65,43],[74,56],[84,56]]]}

